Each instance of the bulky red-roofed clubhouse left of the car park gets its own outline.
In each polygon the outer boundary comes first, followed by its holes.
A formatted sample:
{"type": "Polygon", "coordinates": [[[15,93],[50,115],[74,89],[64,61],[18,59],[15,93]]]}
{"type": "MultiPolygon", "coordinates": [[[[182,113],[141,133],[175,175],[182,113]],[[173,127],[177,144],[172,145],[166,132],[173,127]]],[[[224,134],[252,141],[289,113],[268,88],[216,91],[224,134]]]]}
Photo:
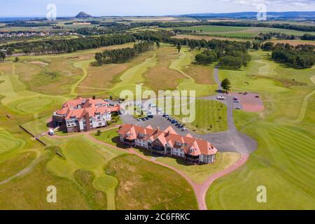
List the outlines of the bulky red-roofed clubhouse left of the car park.
{"type": "Polygon", "coordinates": [[[88,132],[106,127],[111,113],[119,113],[120,106],[109,106],[103,99],[78,97],[62,105],[62,109],[53,113],[54,127],[66,132],[88,132]]]}

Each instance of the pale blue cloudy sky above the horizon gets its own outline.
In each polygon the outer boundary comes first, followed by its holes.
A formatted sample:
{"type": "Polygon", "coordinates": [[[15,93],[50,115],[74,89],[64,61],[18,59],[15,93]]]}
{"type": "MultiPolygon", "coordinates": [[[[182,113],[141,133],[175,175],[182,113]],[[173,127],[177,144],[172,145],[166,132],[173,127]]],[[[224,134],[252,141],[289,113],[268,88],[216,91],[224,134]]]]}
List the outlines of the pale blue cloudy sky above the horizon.
{"type": "Polygon", "coordinates": [[[0,0],[0,18],[45,17],[49,3],[55,4],[57,17],[80,11],[93,16],[233,13],[257,11],[260,3],[267,12],[315,11],[315,0],[0,0]]]}

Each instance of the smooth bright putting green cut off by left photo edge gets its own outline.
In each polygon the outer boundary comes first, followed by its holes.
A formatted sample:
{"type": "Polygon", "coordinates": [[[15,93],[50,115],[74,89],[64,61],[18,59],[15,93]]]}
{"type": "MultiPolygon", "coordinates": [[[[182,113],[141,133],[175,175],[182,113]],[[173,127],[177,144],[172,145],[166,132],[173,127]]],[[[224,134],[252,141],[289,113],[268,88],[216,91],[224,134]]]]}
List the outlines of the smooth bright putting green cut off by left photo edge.
{"type": "Polygon", "coordinates": [[[25,140],[13,137],[10,132],[0,127],[0,154],[23,148],[25,144],[25,140]]]}

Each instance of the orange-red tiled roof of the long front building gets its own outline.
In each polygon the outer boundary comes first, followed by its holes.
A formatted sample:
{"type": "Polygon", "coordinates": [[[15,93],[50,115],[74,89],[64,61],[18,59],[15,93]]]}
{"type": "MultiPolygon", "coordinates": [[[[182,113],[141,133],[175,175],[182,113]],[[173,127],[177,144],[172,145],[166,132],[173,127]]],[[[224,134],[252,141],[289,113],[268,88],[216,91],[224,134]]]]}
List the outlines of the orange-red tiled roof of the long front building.
{"type": "Polygon", "coordinates": [[[120,126],[118,134],[123,135],[125,138],[128,136],[128,133],[132,132],[132,137],[142,139],[143,137],[139,137],[139,134],[146,133],[146,137],[143,139],[150,139],[151,141],[158,139],[161,144],[169,144],[172,147],[181,148],[186,154],[189,155],[213,155],[218,151],[212,144],[209,143],[209,141],[195,139],[190,134],[186,135],[186,137],[183,137],[179,134],[176,134],[175,131],[172,133],[172,130],[174,130],[172,127],[167,127],[166,130],[160,131],[153,130],[151,126],[144,128],[137,125],[126,124],[120,126]]]}

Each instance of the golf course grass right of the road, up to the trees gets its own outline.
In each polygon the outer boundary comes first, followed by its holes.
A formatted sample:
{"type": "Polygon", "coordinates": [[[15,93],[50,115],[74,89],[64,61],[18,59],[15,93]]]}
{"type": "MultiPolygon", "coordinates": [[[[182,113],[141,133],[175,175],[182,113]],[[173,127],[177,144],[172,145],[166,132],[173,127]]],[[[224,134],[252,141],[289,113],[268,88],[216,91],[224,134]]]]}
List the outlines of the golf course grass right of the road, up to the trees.
{"type": "Polygon", "coordinates": [[[286,68],[266,52],[251,55],[246,69],[220,76],[230,78],[232,91],[260,93],[264,112],[234,113],[237,128],[258,141],[258,149],[243,167],[213,183],[208,209],[313,209],[314,69],[286,68]],[[265,87],[255,82],[261,78],[265,87]],[[258,186],[267,188],[267,203],[256,202],[258,186]]]}

